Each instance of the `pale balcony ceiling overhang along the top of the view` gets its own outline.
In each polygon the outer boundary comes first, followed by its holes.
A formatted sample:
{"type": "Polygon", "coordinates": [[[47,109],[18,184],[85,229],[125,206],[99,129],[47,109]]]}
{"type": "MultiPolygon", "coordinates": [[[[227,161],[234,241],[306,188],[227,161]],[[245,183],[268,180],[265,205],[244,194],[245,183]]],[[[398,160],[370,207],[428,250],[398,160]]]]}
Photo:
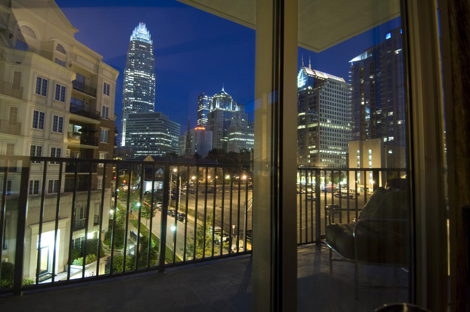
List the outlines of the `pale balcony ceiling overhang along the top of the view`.
{"type": "MultiPolygon", "coordinates": [[[[256,0],[178,0],[256,29],[256,0]]],[[[400,0],[299,0],[299,46],[321,52],[400,16],[400,0]]]]}

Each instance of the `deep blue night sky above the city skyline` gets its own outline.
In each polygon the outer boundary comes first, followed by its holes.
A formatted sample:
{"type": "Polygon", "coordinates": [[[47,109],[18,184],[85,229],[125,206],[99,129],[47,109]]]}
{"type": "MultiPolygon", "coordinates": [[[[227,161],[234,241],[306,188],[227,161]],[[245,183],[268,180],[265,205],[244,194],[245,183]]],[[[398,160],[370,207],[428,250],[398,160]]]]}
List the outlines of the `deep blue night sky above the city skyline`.
{"type": "MultiPolygon", "coordinates": [[[[103,56],[119,70],[115,113],[120,133],[122,83],[129,38],[139,22],[150,31],[155,55],[155,111],[163,111],[181,124],[181,132],[196,125],[197,96],[222,89],[245,105],[253,120],[255,97],[255,30],[218,18],[174,0],[56,0],[71,24],[75,38],[103,56]]],[[[321,53],[299,48],[304,64],[349,81],[350,61],[385,33],[400,26],[400,19],[356,36],[321,53]]]]}

